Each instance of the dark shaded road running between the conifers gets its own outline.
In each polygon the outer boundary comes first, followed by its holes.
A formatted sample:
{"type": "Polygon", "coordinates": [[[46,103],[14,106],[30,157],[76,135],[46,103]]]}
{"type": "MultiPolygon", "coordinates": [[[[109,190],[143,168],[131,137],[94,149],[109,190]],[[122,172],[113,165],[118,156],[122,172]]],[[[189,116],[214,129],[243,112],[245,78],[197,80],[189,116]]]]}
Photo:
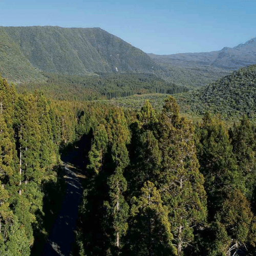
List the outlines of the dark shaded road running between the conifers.
{"type": "Polygon", "coordinates": [[[68,256],[74,242],[78,205],[82,195],[80,179],[85,177],[79,175],[75,167],[66,163],[64,165],[64,178],[67,183],[66,195],[41,256],[68,256]]]}

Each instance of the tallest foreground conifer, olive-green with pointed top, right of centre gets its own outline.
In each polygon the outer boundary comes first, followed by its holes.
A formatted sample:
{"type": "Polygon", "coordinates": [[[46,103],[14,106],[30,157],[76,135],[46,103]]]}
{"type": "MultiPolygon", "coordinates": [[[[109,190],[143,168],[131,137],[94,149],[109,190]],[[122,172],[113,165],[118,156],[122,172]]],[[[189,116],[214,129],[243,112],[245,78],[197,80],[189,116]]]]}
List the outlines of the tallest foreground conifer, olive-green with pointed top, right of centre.
{"type": "Polygon", "coordinates": [[[181,118],[176,100],[165,100],[157,129],[162,152],[159,190],[168,207],[178,256],[194,240],[193,231],[206,220],[204,178],[199,172],[193,125],[181,118]]]}

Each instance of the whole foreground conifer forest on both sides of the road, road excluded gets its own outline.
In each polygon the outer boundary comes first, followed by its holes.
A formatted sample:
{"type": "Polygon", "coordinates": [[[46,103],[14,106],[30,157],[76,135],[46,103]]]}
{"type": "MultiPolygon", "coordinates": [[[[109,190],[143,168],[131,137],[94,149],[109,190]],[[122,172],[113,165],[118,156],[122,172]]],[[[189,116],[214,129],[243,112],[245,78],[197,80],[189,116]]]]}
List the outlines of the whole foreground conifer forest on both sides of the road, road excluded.
{"type": "MultiPolygon", "coordinates": [[[[86,176],[71,255],[255,255],[256,126],[174,97],[161,112],[17,94],[0,79],[0,255],[40,255],[65,190],[60,156],[86,176]]],[[[77,209],[74,209],[77,210],[77,209]]]]}

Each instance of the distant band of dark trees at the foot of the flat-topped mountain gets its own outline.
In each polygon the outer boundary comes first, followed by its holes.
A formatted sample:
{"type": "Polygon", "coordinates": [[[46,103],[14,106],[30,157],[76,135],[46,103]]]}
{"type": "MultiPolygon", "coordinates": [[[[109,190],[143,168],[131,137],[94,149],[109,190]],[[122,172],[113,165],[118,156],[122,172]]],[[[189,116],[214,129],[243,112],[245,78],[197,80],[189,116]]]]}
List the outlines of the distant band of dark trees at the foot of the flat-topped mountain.
{"type": "Polygon", "coordinates": [[[42,90],[58,100],[97,100],[144,93],[175,94],[189,89],[166,82],[154,74],[98,73],[91,76],[44,74],[47,82],[19,84],[18,92],[42,90]]]}

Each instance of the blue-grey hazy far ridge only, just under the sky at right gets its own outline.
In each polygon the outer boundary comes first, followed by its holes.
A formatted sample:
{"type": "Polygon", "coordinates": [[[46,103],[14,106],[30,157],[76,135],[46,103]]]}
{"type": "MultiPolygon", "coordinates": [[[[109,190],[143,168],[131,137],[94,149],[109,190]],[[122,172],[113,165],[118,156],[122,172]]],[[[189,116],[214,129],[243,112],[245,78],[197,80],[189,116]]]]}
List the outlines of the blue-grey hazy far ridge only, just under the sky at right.
{"type": "Polygon", "coordinates": [[[227,70],[237,70],[256,63],[256,37],[236,47],[224,47],[220,51],[201,53],[178,53],[170,55],[148,54],[157,63],[189,67],[211,66],[227,70]]]}

